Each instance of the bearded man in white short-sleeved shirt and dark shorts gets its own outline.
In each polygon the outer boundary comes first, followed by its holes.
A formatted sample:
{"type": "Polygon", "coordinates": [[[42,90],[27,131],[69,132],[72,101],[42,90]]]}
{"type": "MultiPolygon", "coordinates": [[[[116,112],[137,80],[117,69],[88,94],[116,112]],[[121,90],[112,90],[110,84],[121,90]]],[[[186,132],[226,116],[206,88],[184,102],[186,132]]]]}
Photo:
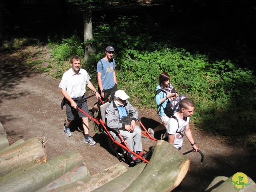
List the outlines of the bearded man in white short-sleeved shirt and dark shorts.
{"type": "Polygon", "coordinates": [[[95,96],[97,98],[100,97],[100,94],[96,91],[93,84],[90,82],[91,78],[86,70],[80,68],[80,58],[77,56],[71,58],[70,64],[71,68],[63,74],[62,80],[59,85],[59,88],[61,88],[61,92],[64,96],[67,114],[64,131],[66,133],[66,136],[72,136],[68,126],[70,125],[72,120],[75,119],[75,114],[78,112],[79,117],[82,118],[84,128],[84,142],[89,143],[90,145],[95,145],[96,142],[89,136],[88,116],[80,111],[77,111],[77,108],[81,108],[84,112],[88,114],[87,102],[78,102],[84,98],[86,86],[95,93],[95,96]]]}

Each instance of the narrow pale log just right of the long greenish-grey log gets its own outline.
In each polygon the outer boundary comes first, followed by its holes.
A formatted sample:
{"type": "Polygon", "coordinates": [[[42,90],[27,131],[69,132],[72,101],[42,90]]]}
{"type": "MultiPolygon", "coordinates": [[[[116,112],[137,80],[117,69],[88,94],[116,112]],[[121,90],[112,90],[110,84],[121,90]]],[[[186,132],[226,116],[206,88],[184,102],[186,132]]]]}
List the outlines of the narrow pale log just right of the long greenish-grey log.
{"type": "Polygon", "coordinates": [[[90,172],[88,171],[86,164],[82,163],[79,166],[72,169],[70,172],[67,172],[66,174],[61,176],[60,178],[50,182],[43,188],[40,188],[36,192],[50,191],[64,185],[83,180],[86,177],[90,177],[90,172]]]}

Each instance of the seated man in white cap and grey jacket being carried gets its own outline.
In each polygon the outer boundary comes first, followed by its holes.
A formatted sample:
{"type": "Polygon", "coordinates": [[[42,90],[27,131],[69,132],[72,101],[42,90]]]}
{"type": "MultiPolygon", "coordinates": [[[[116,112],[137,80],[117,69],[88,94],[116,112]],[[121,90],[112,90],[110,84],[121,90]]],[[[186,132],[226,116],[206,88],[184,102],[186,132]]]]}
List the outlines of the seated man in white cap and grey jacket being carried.
{"type": "MultiPolygon", "coordinates": [[[[118,90],[114,94],[114,100],[106,108],[106,124],[109,128],[118,128],[120,135],[124,138],[129,148],[139,154],[141,157],[145,157],[142,151],[141,143],[141,130],[136,125],[138,117],[138,111],[134,108],[130,102],[127,101],[129,96],[123,91],[118,90]],[[132,118],[130,118],[130,116],[132,118]]],[[[139,163],[140,158],[134,156],[134,154],[128,152],[128,159],[139,163]]]]}

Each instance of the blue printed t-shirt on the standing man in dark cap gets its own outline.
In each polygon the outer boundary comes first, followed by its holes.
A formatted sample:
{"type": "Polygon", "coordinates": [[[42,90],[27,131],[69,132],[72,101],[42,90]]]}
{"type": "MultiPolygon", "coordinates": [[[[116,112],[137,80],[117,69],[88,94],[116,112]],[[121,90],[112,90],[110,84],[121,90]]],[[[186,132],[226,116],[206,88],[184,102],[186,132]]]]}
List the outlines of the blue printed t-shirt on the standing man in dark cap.
{"type": "Polygon", "coordinates": [[[101,81],[103,89],[110,89],[114,87],[114,70],[116,67],[115,60],[112,58],[110,62],[106,61],[104,58],[97,63],[97,72],[101,73],[101,81]]]}

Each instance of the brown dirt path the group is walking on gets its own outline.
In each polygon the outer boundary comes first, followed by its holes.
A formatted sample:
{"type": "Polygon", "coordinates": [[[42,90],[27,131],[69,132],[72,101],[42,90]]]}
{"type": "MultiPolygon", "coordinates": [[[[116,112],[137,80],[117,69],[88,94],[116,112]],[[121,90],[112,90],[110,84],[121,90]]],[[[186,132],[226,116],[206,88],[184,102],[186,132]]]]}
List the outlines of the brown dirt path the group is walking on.
{"type": "MultiPolygon", "coordinates": [[[[45,149],[48,160],[70,150],[78,150],[91,174],[119,162],[118,158],[110,153],[105,136],[94,133],[92,122],[89,124],[90,135],[97,142],[95,146],[84,143],[82,132],[77,128],[79,124],[73,124],[72,137],[64,134],[66,112],[60,109],[63,96],[58,90],[59,80],[55,81],[46,74],[31,72],[29,67],[21,64],[22,58],[15,54],[2,53],[0,60],[0,122],[8,134],[9,144],[19,138],[28,140],[41,137],[47,141],[45,149]]],[[[92,92],[88,91],[87,94],[92,92]]],[[[96,98],[88,100],[89,108],[95,101],[96,98]]],[[[147,128],[154,128],[159,124],[155,110],[139,112],[147,128]]],[[[198,153],[186,155],[191,159],[191,163],[181,184],[181,191],[204,191],[216,176],[230,177],[236,172],[244,172],[256,180],[253,153],[237,146],[235,142],[228,142],[224,137],[195,130],[193,125],[191,127],[194,140],[204,153],[204,162],[200,162],[198,153]]],[[[154,145],[149,139],[142,140],[145,151],[154,145]]],[[[190,149],[191,146],[185,138],[182,152],[190,149]]]]}

